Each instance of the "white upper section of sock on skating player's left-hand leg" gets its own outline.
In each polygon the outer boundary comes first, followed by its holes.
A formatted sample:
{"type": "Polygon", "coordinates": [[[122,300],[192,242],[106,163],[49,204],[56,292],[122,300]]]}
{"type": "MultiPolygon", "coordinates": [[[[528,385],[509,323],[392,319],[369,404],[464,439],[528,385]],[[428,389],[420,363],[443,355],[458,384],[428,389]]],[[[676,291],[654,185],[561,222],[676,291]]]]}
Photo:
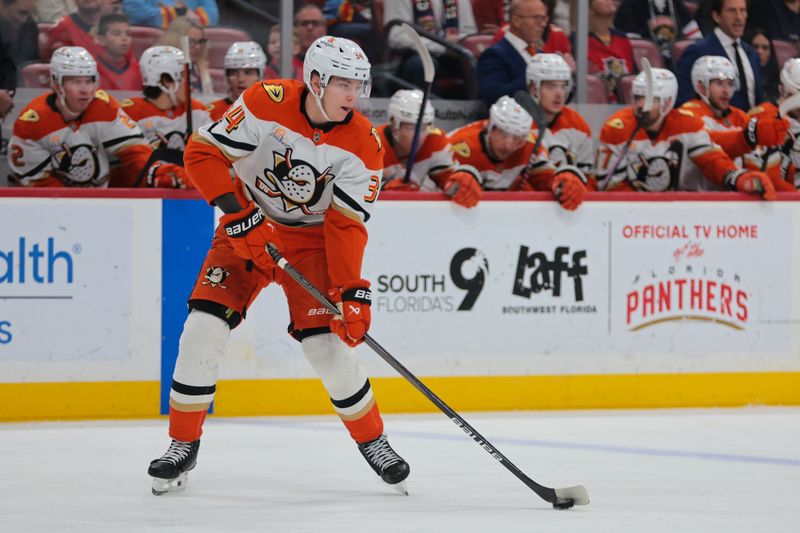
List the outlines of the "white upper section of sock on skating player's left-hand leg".
{"type": "MultiPolygon", "coordinates": [[[[193,387],[206,389],[216,385],[217,368],[230,337],[228,324],[214,315],[192,310],[183,325],[178,346],[178,360],[173,374],[173,392],[191,395],[193,387]]],[[[196,391],[201,392],[201,391],[196,391]]],[[[210,392],[213,395],[213,391],[210,392]]]]}

